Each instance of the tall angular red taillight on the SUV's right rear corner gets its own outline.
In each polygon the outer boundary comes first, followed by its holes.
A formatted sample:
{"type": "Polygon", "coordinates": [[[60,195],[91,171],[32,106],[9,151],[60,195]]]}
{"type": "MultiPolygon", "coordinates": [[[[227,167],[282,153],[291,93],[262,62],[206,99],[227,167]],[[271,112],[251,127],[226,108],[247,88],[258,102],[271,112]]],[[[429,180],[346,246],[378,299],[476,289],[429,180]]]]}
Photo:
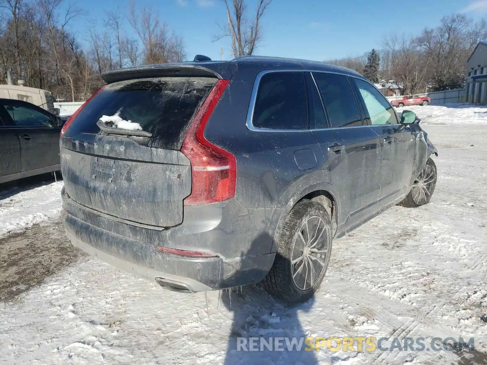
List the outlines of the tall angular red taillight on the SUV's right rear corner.
{"type": "Polygon", "coordinates": [[[184,139],[181,152],[191,162],[191,194],[184,200],[184,205],[213,203],[235,196],[235,156],[208,142],[203,134],[228,81],[218,80],[196,113],[184,139]]]}

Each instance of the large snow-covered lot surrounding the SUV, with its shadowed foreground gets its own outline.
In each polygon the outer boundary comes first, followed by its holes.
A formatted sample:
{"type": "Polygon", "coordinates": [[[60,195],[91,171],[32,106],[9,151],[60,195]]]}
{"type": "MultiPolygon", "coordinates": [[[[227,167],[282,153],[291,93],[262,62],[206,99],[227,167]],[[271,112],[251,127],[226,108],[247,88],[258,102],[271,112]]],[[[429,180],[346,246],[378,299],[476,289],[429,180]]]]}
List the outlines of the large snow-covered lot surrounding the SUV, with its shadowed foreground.
{"type": "MultiPolygon", "coordinates": [[[[169,292],[83,256],[29,292],[0,303],[0,361],[487,364],[487,325],[481,319],[487,314],[486,117],[465,123],[476,112],[487,115],[487,108],[468,108],[468,115],[467,108],[441,108],[417,107],[439,152],[431,202],[417,209],[395,206],[335,241],[326,280],[307,303],[286,307],[253,288],[169,292]],[[422,115],[428,110],[431,116],[422,115]],[[238,352],[239,336],[425,337],[427,347],[433,337],[475,337],[476,351],[238,352]]],[[[58,199],[59,188],[53,184],[19,193],[25,198],[21,203],[15,195],[8,199],[15,207],[23,204],[15,210],[19,219],[34,213],[53,216],[49,204],[32,205],[47,201],[46,191],[58,199]],[[19,213],[22,209],[25,213],[19,213]]]]}

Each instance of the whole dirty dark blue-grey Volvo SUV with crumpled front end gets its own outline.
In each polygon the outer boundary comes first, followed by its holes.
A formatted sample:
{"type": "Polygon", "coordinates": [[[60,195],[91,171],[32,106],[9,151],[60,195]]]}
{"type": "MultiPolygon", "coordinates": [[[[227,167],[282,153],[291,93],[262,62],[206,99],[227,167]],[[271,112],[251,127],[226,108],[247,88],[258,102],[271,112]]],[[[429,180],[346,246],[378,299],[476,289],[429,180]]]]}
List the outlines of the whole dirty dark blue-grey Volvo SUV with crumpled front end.
{"type": "Polygon", "coordinates": [[[351,70],[246,56],[102,77],[62,131],[66,231],[165,288],[305,300],[333,238],[433,193],[419,120],[351,70]]]}

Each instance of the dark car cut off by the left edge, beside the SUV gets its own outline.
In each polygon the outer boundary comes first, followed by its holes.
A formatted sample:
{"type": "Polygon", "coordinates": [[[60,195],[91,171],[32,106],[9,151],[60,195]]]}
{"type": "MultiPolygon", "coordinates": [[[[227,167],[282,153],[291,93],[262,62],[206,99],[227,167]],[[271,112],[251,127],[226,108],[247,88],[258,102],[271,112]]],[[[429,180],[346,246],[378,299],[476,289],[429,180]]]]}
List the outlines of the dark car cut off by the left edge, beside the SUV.
{"type": "Polygon", "coordinates": [[[0,99],[0,183],[59,170],[62,124],[34,104],[0,99]]]}

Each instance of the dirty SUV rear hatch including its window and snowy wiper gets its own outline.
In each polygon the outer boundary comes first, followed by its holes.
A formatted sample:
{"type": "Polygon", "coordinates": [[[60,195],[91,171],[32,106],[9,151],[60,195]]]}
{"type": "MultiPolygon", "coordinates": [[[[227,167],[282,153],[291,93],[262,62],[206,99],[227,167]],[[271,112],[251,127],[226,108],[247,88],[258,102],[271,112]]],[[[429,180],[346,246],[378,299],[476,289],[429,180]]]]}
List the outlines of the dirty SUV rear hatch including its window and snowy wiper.
{"type": "Polygon", "coordinates": [[[149,77],[100,89],[63,128],[61,170],[70,199],[118,219],[180,224],[191,193],[191,166],[180,149],[217,81],[149,77]]]}

